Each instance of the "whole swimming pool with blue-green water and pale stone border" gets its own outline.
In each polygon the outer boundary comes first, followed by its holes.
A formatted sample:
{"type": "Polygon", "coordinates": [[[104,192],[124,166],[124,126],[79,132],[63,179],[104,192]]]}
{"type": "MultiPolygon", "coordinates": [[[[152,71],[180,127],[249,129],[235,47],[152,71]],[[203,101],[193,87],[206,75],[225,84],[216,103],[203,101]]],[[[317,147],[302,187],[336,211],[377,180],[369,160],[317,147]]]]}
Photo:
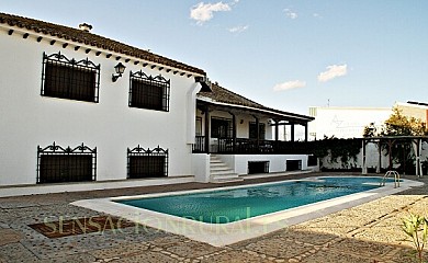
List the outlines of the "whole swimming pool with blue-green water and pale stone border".
{"type": "Polygon", "coordinates": [[[82,199],[71,204],[122,217],[138,222],[143,227],[156,228],[215,247],[223,247],[423,184],[403,179],[401,187],[395,188],[393,182],[387,182],[382,187],[379,186],[379,182],[380,178],[323,176],[222,187],[221,190],[82,199]],[[282,196],[285,193],[290,195],[282,196]],[[211,199],[215,201],[211,202],[211,199]],[[256,206],[248,204],[249,199],[256,201],[256,206]],[[154,203],[147,208],[131,205],[139,201],[154,203]],[[201,201],[203,202],[200,203],[201,201]],[[218,204],[225,204],[226,209],[217,206],[218,204]],[[272,209],[272,204],[279,208],[272,209]],[[190,209],[184,210],[193,206],[195,207],[194,214],[191,214],[190,209]],[[210,208],[201,209],[201,206],[210,208]],[[165,207],[178,210],[178,213],[165,211],[165,207]],[[230,209],[230,207],[235,208],[230,209]],[[205,214],[200,214],[202,210],[205,214]],[[212,214],[213,210],[219,213],[212,214]]]}

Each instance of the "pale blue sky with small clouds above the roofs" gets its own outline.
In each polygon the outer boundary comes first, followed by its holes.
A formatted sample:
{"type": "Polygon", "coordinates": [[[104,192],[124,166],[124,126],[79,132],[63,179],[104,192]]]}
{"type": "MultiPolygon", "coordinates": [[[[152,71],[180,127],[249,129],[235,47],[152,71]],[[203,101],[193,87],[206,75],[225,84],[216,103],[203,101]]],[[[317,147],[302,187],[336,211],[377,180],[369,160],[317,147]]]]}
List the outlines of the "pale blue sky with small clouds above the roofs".
{"type": "Polygon", "coordinates": [[[0,0],[203,69],[266,106],[428,103],[427,0],[0,0]]]}

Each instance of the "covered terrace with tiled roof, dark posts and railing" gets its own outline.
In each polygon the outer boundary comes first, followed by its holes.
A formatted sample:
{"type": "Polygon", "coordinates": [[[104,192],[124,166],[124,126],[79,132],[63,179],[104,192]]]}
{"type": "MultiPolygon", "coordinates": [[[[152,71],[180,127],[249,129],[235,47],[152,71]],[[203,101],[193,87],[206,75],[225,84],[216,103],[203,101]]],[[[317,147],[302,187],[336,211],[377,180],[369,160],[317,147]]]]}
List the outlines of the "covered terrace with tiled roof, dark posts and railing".
{"type": "Polygon", "coordinates": [[[212,92],[198,94],[196,111],[193,152],[204,153],[284,153],[286,142],[280,140],[280,126],[290,126],[291,141],[295,140],[295,126],[303,126],[306,141],[307,123],[314,119],[266,107],[217,84],[212,92]],[[216,119],[218,116],[222,119],[216,119]]]}

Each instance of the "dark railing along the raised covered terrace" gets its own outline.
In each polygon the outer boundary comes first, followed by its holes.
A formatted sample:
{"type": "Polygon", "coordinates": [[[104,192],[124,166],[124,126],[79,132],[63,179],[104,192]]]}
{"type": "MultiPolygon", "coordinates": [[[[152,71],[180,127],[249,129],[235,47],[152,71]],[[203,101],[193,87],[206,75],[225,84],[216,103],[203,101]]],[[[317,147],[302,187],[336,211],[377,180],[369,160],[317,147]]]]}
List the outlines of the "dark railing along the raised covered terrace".
{"type": "Polygon", "coordinates": [[[306,141],[275,141],[248,138],[215,138],[205,149],[205,136],[196,136],[193,152],[229,155],[300,155],[312,153],[306,141]]]}

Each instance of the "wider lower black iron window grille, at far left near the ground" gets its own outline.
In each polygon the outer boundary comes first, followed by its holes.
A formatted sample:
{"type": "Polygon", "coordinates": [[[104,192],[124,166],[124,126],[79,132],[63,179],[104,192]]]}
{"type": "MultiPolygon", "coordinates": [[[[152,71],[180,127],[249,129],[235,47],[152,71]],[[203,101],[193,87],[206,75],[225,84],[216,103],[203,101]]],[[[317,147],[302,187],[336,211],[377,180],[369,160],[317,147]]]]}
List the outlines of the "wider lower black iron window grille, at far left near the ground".
{"type": "Polygon", "coordinates": [[[95,181],[97,148],[53,145],[37,147],[37,183],[95,181]]]}

